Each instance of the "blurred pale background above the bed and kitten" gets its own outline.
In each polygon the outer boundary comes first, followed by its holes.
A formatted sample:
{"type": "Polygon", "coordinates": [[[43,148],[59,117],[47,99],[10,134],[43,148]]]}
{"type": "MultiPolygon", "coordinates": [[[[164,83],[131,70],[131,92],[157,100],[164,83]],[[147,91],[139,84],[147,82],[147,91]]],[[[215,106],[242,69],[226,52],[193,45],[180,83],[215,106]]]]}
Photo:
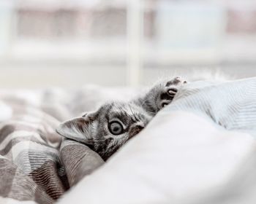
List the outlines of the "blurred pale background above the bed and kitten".
{"type": "Polygon", "coordinates": [[[0,87],[256,76],[255,0],[0,0],[0,87]]]}

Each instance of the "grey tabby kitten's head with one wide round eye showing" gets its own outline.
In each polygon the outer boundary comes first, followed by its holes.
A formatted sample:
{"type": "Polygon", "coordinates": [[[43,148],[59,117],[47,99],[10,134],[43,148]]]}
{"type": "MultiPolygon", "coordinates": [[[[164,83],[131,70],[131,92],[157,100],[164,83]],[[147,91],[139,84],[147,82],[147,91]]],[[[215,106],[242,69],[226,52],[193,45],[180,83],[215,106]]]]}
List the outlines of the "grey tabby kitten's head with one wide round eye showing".
{"type": "Polygon", "coordinates": [[[63,122],[57,132],[80,141],[104,160],[142,130],[151,116],[135,103],[105,103],[97,111],[63,122]]]}

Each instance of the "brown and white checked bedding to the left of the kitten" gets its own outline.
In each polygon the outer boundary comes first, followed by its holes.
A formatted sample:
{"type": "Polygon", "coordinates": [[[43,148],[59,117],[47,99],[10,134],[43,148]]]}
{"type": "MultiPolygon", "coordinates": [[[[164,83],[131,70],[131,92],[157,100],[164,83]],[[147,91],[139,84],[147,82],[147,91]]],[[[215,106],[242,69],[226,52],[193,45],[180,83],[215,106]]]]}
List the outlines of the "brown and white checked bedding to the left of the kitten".
{"type": "MultiPolygon", "coordinates": [[[[61,121],[74,117],[79,110],[93,109],[95,101],[104,101],[101,91],[97,87],[74,91],[0,90],[0,203],[8,199],[10,203],[54,203],[104,164],[87,146],[62,141],[56,133],[61,121]]],[[[105,93],[110,95],[108,89],[105,93]]]]}

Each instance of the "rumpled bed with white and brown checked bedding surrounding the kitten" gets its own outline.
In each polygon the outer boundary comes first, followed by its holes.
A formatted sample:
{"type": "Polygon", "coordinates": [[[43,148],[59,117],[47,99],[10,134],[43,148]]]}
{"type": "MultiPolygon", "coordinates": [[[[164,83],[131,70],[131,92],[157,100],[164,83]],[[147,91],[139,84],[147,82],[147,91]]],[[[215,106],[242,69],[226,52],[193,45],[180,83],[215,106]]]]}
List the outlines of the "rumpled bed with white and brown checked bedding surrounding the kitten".
{"type": "Polygon", "coordinates": [[[138,92],[1,90],[0,203],[255,203],[255,78],[184,86],[107,162],[55,132],[138,92]]]}

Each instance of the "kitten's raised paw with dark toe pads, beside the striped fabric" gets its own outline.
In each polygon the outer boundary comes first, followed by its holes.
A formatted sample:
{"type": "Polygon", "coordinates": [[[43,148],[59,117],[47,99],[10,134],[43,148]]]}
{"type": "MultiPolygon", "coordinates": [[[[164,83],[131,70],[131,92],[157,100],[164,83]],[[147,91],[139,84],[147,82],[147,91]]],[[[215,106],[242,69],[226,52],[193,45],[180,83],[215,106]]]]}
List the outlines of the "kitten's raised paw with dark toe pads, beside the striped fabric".
{"type": "Polygon", "coordinates": [[[187,81],[180,76],[167,81],[162,89],[162,93],[159,95],[159,109],[162,109],[173,101],[178,89],[184,84],[187,84],[187,81]]]}

